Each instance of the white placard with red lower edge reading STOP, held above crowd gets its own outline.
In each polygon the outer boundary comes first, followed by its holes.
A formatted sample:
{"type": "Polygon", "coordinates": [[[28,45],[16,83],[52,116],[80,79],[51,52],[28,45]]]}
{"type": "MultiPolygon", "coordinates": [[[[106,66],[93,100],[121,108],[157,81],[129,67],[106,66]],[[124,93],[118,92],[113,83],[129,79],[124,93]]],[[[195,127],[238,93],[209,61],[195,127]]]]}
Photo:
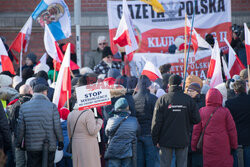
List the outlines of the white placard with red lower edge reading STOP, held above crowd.
{"type": "Polygon", "coordinates": [[[79,110],[86,110],[110,105],[110,89],[99,86],[100,83],[80,86],[76,88],[76,97],[79,110]]]}

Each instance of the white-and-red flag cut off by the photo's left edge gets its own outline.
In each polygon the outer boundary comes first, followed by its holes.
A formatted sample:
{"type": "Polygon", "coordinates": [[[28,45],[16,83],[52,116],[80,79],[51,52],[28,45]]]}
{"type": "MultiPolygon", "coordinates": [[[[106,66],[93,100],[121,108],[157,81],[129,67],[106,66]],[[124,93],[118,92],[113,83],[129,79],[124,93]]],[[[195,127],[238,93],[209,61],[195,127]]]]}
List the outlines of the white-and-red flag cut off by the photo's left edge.
{"type": "Polygon", "coordinates": [[[0,38],[0,64],[2,71],[9,71],[11,74],[15,74],[13,64],[9,58],[8,52],[5,49],[2,39],[0,38]]]}

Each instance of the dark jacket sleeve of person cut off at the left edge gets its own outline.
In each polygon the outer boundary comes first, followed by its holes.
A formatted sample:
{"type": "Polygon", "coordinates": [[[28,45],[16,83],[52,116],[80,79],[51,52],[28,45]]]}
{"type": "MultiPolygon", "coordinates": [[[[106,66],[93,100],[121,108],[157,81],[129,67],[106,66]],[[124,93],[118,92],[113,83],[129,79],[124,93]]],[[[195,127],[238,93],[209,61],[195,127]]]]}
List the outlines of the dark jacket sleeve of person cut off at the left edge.
{"type": "Polygon", "coordinates": [[[5,153],[11,149],[10,129],[2,103],[0,103],[0,149],[5,153]]]}

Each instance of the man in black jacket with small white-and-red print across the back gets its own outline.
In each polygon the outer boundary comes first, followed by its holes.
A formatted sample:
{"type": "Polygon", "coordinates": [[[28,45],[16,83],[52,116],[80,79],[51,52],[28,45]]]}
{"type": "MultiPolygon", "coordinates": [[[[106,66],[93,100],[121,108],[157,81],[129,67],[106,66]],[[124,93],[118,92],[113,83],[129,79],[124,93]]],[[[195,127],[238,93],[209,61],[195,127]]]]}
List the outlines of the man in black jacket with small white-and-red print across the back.
{"type": "Polygon", "coordinates": [[[197,105],[183,93],[181,82],[180,76],[172,75],[168,94],[155,104],[151,133],[154,145],[160,147],[160,164],[164,167],[170,167],[173,150],[176,166],[187,166],[190,130],[192,124],[200,122],[197,105]]]}

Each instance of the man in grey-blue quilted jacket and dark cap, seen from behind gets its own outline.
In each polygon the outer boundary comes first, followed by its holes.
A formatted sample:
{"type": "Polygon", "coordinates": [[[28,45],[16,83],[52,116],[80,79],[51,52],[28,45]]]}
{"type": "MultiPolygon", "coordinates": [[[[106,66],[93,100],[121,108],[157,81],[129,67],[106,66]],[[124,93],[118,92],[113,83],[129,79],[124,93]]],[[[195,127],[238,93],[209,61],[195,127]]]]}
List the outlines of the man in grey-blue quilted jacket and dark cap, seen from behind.
{"type": "Polygon", "coordinates": [[[33,97],[19,109],[16,147],[20,148],[24,139],[27,150],[27,166],[41,167],[43,149],[48,147],[48,166],[54,166],[55,151],[63,149],[63,134],[57,107],[47,97],[48,87],[38,84],[33,89],[33,97]]]}

